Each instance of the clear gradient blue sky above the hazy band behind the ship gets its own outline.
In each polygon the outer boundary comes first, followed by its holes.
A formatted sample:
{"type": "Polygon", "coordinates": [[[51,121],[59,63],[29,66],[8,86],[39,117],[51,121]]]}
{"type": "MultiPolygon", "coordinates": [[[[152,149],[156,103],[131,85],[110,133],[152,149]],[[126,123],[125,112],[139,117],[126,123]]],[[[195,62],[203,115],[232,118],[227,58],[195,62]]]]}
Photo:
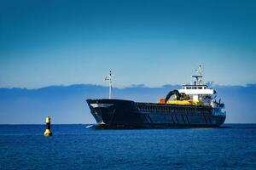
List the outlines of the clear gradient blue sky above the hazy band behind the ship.
{"type": "Polygon", "coordinates": [[[0,87],[256,82],[256,1],[0,2],[0,87]]]}

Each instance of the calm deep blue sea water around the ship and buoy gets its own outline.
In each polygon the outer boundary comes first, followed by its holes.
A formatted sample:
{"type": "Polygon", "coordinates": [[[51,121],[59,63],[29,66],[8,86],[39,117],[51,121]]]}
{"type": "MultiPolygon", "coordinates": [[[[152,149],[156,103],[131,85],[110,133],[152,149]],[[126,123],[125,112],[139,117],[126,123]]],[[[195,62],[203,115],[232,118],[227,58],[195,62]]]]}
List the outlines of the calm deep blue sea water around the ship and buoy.
{"type": "Polygon", "coordinates": [[[0,126],[0,169],[256,169],[256,125],[95,130],[0,126]]]}

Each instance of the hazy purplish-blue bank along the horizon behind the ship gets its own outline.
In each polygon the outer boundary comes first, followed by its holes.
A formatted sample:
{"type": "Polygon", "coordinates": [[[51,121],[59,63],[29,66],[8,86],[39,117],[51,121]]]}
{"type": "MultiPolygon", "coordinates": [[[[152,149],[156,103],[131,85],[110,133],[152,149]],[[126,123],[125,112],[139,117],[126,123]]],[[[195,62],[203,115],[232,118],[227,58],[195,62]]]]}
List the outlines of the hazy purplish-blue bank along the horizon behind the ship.
{"type": "MultiPolygon", "coordinates": [[[[156,102],[165,98],[177,85],[148,88],[134,85],[113,88],[113,97],[156,102]]],[[[215,86],[224,101],[226,122],[256,123],[256,84],[247,86],[215,86]]],[[[85,99],[108,98],[108,87],[92,84],[49,86],[38,89],[0,88],[1,124],[43,124],[46,116],[53,123],[95,123],[85,99]]]]}

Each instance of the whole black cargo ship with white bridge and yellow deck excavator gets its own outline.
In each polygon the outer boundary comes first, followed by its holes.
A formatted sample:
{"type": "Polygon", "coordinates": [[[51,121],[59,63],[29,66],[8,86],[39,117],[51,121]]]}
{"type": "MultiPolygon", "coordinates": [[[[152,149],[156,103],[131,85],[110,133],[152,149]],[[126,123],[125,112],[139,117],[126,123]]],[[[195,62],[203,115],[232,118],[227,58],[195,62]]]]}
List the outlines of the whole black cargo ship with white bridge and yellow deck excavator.
{"type": "Polygon", "coordinates": [[[112,99],[112,73],[109,99],[87,99],[98,128],[220,127],[226,118],[224,103],[217,92],[202,82],[201,65],[193,82],[173,89],[158,102],[112,99]]]}

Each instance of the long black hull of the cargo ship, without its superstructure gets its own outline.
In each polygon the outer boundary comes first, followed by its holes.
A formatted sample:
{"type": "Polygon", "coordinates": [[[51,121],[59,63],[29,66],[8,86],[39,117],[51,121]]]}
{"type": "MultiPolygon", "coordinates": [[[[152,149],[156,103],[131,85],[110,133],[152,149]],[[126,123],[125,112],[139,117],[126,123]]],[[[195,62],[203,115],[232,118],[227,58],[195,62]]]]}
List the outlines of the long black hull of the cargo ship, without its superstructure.
{"type": "Polygon", "coordinates": [[[87,99],[99,128],[219,127],[223,115],[212,107],[138,103],[123,99],[87,99]]]}

